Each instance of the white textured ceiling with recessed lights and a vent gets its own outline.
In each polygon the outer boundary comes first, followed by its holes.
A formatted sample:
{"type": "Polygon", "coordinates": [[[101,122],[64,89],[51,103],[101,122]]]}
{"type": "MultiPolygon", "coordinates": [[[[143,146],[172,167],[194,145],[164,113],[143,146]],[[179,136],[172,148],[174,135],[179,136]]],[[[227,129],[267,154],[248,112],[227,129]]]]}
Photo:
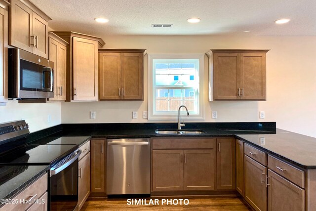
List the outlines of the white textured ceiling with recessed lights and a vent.
{"type": "Polygon", "coordinates": [[[316,0],[31,0],[59,31],[104,35],[315,36],[316,0]],[[106,24],[95,17],[105,17],[106,24]],[[190,24],[188,18],[201,22],[190,24]],[[284,25],[275,20],[289,18],[284,25]],[[172,28],[151,24],[173,23],[172,28]]]}

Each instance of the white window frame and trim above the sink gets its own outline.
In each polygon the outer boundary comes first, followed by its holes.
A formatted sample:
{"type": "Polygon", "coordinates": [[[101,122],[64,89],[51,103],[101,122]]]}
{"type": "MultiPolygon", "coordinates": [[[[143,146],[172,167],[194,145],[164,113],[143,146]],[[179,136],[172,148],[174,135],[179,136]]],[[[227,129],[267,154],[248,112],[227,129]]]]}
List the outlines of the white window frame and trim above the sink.
{"type": "MultiPolygon", "coordinates": [[[[154,73],[153,73],[153,60],[154,59],[198,59],[198,114],[190,114],[190,116],[184,116],[183,119],[187,120],[204,120],[204,54],[148,54],[148,120],[177,120],[178,111],[174,112],[159,112],[154,111],[154,96],[156,89],[154,89],[154,73]]],[[[181,109],[181,114],[184,109],[181,109]]]]}

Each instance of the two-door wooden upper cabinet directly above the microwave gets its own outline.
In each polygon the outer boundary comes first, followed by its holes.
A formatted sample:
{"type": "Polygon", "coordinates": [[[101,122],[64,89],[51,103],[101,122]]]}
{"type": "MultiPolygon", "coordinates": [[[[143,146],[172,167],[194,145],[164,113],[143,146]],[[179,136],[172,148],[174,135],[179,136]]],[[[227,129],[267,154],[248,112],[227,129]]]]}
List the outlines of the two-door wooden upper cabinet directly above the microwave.
{"type": "Polygon", "coordinates": [[[29,0],[10,0],[9,45],[47,58],[48,21],[29,0]]]}

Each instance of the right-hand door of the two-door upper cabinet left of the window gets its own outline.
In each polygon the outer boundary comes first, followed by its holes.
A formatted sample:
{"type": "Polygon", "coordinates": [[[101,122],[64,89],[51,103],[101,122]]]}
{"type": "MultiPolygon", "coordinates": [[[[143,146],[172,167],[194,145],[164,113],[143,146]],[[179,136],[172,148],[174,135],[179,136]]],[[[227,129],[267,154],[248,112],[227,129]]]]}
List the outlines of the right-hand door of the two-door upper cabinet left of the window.
{"type": "Polygon", "coordinates": [[[143,100],[143,53],[121,53],[122,94],[125,100],[143,100]]]}

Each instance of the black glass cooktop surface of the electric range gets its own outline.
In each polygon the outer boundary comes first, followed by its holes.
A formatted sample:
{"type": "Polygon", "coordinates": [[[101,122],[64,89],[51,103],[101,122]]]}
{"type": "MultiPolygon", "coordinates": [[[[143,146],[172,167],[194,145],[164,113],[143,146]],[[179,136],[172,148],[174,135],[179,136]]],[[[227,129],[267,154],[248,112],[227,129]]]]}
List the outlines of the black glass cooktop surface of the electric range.
{"type": "Polygon", "coordinates": [[[28,145],[0,157],[0,165],[53,165],[78,145],[28,145]]]}

